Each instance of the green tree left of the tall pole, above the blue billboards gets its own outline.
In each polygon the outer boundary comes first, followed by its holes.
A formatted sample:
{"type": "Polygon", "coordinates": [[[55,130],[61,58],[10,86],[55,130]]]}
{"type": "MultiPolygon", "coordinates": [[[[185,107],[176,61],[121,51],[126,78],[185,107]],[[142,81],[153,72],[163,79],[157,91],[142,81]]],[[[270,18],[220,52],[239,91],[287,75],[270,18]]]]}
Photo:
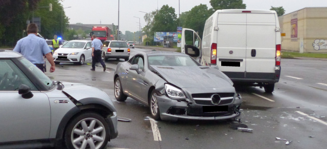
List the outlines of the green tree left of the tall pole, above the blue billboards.
{"type": "Polygon", "coordinates": [[[153,18],[150,35],[154,32],[175,32],[177,30],[177,15],[175,9],[164,5],[153,18]]]}

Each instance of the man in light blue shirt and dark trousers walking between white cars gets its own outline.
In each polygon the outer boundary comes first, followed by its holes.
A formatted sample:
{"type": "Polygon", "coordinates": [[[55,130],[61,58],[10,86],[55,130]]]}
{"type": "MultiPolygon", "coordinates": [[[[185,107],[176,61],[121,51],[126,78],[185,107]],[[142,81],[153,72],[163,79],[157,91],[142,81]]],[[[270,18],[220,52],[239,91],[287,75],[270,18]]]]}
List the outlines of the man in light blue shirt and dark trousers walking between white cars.
{"type": "Polygon", "coordinates": [[[101,40],[97,39],[96,35],[92,35],[93,41],[92,41],[92,68],[91,71],[96,71],[96,62],[100,62],[102,67],[103,67],[103,71],[106,71],[106,65],[102,60],[101,57],[101,49],[103,47],[103,44],[101,42],[101,40]]]}

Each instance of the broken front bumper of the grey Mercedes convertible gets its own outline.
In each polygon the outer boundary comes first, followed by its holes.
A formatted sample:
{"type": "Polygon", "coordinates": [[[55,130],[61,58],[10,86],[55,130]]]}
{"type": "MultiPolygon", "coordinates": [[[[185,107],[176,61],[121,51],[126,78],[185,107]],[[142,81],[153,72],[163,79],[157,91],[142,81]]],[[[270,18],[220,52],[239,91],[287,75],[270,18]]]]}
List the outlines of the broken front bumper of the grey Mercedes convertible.
{"type": "MultiPolygon", "coordinates": [[[[166,95],[156,96],[162,120],[177,121],[178,119],[195,120],[222,120],[232,119],[240,116],[241,97],[236,97],[228,104],[227,112],[202,113],[205,105],[196,104],[186,100],[175,100],[166,95]],[[195,114],[196,113],[196,114],[195,114]]],[[[214,105],[215,106],[215,105],[214,105]]]]}

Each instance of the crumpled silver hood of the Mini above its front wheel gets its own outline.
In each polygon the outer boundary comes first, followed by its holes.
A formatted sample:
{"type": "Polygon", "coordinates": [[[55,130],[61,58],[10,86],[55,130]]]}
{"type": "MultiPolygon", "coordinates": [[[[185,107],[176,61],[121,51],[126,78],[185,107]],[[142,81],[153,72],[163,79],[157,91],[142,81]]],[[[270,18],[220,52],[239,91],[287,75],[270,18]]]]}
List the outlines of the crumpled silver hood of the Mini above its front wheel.
{"type": "Polygon", "coordinates": [[[62,92],[72,96],[82,104],[100,104],[115,112],[110,97],[102,90],[82,83],[61,82],[64,86],[62,92]]]}

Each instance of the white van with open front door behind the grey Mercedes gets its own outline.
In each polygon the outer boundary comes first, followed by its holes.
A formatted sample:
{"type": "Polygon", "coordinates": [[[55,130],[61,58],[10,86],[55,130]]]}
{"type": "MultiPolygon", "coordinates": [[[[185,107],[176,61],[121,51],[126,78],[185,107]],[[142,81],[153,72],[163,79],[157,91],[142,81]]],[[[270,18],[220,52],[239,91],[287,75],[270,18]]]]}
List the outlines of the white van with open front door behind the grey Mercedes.
{"type": "Polygon", "coordinates": [[[202,41],[194,30],[183,29],[181,45],[186,54],[199,49],[201,65],[216,65],[235,84],[271,93],[279,81],[281,33],[275,11],[217,10],[205,22],[202,41]]]}

